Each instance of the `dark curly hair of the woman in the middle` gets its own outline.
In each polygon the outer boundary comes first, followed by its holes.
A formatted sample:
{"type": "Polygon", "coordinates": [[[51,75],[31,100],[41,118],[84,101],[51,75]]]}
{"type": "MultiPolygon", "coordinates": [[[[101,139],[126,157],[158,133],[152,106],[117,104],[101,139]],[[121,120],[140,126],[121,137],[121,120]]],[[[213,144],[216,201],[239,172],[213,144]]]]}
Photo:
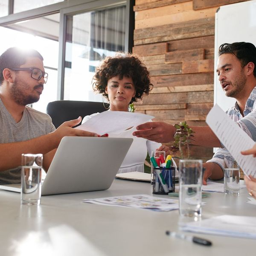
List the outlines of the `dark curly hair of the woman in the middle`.
{"type": "Polygon", "coordinates": [[[143,94],[148,95],[153,88],[148,69],[139,56],[135,54],[118,52],[114,57],[106,57],[102,64],[96,68],[93,76],[93,90],[108,99],[105,88],[108,85],[108,80],[115,76],[119,76],[119,79],[123,79],[125,76],[133,80],[136,94],[130,103],[142,99],[143,94]]]}

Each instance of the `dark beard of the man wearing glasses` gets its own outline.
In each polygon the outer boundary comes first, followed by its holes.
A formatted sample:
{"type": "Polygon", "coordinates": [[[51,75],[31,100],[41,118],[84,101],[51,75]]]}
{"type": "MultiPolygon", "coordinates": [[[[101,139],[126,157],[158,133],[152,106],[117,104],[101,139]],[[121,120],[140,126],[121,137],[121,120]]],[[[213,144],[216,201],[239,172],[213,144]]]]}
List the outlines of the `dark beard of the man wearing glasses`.
{"type": "MultiPolygon", "coordinates": [[[[42,85],[41,84],[35,85],[34,89],[38,87],[42,87],[42,85]]],[[[28,104],[38,102],[38,100],[40,99],[40,95],[38,96],[25,95],[23,93],[24,91],[29,91],[29,90],[31,90],[31,87],[27,83],[25,82],[18,83],[14,81],[10,88],[10,94],[12,96],[12,99],[14,99],[17,104],[26,106],[28,104]]]]}

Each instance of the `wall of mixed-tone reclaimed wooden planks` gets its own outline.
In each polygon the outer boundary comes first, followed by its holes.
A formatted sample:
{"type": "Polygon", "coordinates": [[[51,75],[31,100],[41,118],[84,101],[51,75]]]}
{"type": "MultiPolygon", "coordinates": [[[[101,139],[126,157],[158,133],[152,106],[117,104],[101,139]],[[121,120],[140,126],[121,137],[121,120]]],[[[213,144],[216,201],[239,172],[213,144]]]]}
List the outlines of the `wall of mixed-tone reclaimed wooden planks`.
{"type": "MultiPolygon", "coordinates": [[[[171,124],[206,125],[213,106],[215,12],[237,2],[243,0],[136,0],[133,52],[143,56],[154,84],[137,112],[171,124]]],[[[192,146],[193,158],[212,154],[212,148],[192,146]]]]}

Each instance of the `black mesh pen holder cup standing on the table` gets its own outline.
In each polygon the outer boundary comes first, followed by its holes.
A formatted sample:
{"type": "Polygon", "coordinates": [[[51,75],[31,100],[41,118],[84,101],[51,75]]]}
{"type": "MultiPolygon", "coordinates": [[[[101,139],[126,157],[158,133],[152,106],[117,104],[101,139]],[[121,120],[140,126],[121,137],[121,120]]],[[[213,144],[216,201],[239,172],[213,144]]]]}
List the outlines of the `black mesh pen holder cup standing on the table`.
{"type": "Polygon", "coordinates": [[[153,194],[168,195],[175,192],[175,167],[154,167],[152,185],[153,194]]]}

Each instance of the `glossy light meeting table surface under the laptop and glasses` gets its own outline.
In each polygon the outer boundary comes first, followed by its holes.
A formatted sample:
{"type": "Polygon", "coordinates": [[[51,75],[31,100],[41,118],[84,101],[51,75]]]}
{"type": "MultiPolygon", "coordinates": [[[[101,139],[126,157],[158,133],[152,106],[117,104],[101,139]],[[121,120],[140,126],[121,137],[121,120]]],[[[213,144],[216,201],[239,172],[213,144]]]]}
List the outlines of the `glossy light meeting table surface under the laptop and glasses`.
{"type": "MultiPolygon", "coordinates": [[[[178,210],[154,212],[83,203],[83,199],[151,194],[146,182],[115,179],[108,190],[43,196],[40,206],[20,205],[20,194],[0,190],[0,255],[249,255],[255,240],[197,234],[211,247],[171,239],[166,230],[178,231],[178,210]],[[29,253],[29,248],[35,251],[29,253]]],[[[169,196],[163,196],[169,198],[169,196]]],[[[255,216],[247,204],[247,190],[238,196],[212,192],[203,198],[202,218],[230,214],[255,216]]],[[[192,233],[187,233],[192,235],[192,233]]]]}

